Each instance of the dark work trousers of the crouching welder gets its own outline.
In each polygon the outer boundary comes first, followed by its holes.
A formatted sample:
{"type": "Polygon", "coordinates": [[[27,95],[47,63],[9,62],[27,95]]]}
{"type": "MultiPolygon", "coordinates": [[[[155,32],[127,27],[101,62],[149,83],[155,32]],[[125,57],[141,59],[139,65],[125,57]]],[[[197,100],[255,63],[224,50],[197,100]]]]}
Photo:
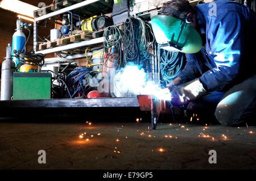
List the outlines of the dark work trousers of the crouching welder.
{"type": "Polygon", "coordinates": [[[213,91],[191,102],[187,115],[198,113],[204,121],[236,127],[248,121],[256,123],[256,75],[235,85],[227,92],[213,91]]]}

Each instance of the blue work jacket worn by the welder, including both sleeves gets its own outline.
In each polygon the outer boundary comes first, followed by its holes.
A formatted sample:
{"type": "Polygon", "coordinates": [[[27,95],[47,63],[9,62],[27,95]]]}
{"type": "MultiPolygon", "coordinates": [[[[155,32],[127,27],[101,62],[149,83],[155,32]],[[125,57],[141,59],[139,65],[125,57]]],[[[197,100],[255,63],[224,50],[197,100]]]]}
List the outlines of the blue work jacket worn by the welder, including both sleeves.
{"type": "Polygon", "coordinates": [[[256,72],[256,14],[239,3],[220,0],[195,8],[200,52],[186,54],[183,82],[199,78],[205,90],[228,90],[256,72]],[[214,3],[214,4],[213,4],[214,3]],[[228,89],[225,89],[228,88],[228,89]]]}

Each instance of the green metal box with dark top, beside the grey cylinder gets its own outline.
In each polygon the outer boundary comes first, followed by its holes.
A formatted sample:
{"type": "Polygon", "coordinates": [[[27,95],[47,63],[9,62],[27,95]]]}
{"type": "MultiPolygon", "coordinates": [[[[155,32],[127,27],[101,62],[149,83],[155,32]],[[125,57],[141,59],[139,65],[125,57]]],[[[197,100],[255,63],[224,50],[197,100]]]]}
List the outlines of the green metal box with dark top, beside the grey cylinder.
{"type": "Polygon", "coordinates": [[[14,73],[14,100],[51,99],[51,73],[14,73]]]}

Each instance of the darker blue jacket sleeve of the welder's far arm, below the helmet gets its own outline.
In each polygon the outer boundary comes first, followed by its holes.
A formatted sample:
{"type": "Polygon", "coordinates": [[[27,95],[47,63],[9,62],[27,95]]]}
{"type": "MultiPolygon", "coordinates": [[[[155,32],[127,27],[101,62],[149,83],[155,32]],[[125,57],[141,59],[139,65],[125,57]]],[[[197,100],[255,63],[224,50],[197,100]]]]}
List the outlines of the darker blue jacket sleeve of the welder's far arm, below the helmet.
{"type": "Polygon", "coordinates": [[[187,64],[184,69],[181,70],[177,77],[181,78],[182,83],[191,81],[200,75],[199,70],[194,60],[195,54],[185,54],[187,58],[187,64]]]}

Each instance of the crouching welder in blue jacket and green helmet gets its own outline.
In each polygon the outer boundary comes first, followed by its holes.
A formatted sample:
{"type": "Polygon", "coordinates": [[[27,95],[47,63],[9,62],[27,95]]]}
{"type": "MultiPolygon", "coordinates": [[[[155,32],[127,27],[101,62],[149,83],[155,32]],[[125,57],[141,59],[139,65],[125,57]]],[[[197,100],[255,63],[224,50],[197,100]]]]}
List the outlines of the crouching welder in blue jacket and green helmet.
{"type": "Polygon", "coordinates": [[[186,0],[172,0],[164,3],[152,22],[158,43],[167,38],[169,48],[179,50],[187,57],[185,68],[168,84],[173,104],[185,105],[188,114],[199,113],[205,115],[204,119],[210,119],[212,115],[225,126],[255,121],[255,12],[228,0],[195,7],[186,0]],[[173,24],[184,22],[196,33],[188,35],[184,44],[179,44],[178,40],[172,39],[181,35],[184,26],[174,28],[173,24]],[[172,28],[161,33],[161,24],[172,28]],[[166,32],[172,33],[171,38],[164,35],[166,32]],[[197,33],[200,36],[196,36],[197,33]],[[191,37],[195,38],[192,40],[191,37]],[[202,46],[195,52],[193,43],[196,45],[196,42],[202,46]],[[185,47],[189,47],[189,43],[192,44],[190,49],[185,47]]]}

